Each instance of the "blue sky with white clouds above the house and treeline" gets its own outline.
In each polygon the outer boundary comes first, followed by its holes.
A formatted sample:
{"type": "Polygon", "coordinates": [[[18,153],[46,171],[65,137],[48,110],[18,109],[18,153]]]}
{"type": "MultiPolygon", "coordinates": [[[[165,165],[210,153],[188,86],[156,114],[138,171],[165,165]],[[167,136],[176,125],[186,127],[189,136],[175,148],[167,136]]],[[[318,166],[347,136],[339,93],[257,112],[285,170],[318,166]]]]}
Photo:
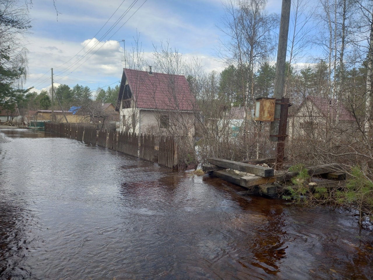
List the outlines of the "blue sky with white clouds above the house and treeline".
{"type": "MultiPolygon", "coordinates": [[[[51,68],[59,84],[91,90],[115,86],[126,51],[140,34],[145,53],[169,41],[187,59],[198,57],[206,71],[222,69],[214,49],[223,34],[216,27],[224,15],[220,0],[53,0],[34,1],[28,35],[29,78],[26,87],[50,87],[51,68]]],[[[268,1],[280,13],[281,1],[268,1]]]]}

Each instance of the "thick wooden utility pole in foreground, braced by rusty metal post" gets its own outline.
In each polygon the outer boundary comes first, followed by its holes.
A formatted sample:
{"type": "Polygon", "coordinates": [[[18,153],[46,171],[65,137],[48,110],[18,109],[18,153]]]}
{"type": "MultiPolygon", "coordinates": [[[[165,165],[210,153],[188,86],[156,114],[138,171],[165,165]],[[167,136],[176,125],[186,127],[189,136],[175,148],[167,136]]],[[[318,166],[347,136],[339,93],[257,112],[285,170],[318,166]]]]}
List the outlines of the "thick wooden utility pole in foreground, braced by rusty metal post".
{"type": "Polygon", "coordinates": [[[275,73],[275,85],[273,97],[276,98],[275,120],[271,122],[269,133],[270,141],[277,141],[276,166],[282,167],[283,155],[285,149],[286,122],[289,107],[289,99],[283,98],[283,84],[285,76],[286,50],[288,47],[288,33],[290,20],[291,0],[282,0],[281,20],[279,32],[279,44],[277,51],[277,63],[275,73]],[[287,104],[286,104],[287,103],[287,104]],[[282,118],[282,119],[281,119],[282,118]],[[286,119],[284,119],[286,118],[286,119]],[[281,129],[280,129],[281,127],[281,129]],[[285,131],[284,131],[285,130],[285,131]]]}

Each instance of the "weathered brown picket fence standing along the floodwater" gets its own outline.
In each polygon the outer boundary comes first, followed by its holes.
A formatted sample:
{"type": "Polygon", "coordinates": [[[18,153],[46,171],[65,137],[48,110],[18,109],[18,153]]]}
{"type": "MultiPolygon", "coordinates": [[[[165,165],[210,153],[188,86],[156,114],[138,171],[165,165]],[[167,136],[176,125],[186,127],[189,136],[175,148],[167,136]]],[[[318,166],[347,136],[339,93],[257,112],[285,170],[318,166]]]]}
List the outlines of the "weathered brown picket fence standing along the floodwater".
{"type": "Polygon", "coordinates": [[[106,129],[97,130],[83,125],[51,122],[45,122],[44,128],[46,132],[54,133],[59,137],[68,137],[107,147],[165,167],[178,167],[178,146],[170,136],[161,137],[157,144],[154,135],[149,134],[139,136],[136,133],[116,133],[114,130],[108,132],[106,129]]]}

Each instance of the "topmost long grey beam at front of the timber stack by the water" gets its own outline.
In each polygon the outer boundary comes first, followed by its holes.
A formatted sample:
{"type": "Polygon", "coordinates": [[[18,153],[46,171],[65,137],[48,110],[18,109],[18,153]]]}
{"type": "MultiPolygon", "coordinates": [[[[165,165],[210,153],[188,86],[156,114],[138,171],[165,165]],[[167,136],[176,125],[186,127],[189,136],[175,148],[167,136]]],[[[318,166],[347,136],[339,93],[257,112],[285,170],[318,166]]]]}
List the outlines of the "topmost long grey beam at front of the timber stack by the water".
{"type": "Polygon", "coordinates": [[[208,158],[207,161],[211,164],[215,164],[221,167],[230,168],[250,174],[255,174],[261,177],[271,177],[274,174],[273,168],[261,167],[252,164],[245,164],[236,161],[228,161],[226,159],[208,158]]]}

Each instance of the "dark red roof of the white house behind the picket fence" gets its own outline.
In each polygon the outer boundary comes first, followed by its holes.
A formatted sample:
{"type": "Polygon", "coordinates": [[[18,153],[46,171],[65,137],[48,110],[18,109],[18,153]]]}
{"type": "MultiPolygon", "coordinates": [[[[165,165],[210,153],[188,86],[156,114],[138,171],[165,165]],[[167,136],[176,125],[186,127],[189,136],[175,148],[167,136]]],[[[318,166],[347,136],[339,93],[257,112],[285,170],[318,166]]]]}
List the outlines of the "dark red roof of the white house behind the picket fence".
{"type": "MultiPolygon", "coordinates": [[[[195,98],[183,75],[123,69],[122,83],[128,81],[136,106],[143,109],[193,111],[195,98]]],[[[121,99],[124,87],[120,87],[121,99]]]]}

